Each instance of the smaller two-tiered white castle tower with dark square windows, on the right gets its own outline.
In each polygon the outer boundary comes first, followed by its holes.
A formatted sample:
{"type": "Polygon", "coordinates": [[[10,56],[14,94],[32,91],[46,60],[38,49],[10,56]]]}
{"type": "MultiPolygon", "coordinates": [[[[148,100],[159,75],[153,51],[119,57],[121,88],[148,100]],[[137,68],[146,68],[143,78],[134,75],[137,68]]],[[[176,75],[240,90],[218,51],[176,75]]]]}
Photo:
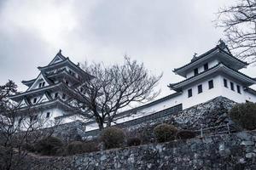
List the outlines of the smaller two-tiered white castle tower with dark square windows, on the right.
{"type": "Polygon", "coordinates": [[[183,109],[223,96],[238,103],[256,102],[256,93],[251,85],[256,79],[239,70],[247,63],[234,57],[223,41],[215,48],[200,56],[194,56],[187,65],[174,69],[184,77],[182,82],[171,83],[168,87],[180,93],[183,109]]]}

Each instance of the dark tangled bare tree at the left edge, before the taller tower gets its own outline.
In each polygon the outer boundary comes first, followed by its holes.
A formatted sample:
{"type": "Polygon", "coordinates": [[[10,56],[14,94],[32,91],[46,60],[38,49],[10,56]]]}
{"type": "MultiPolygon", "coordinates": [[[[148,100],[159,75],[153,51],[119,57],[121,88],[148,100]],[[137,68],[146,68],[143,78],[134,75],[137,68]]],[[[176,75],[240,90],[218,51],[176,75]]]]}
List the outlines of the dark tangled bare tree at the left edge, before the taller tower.
{"type": "Polygon", "coordinates": [[[21,113],[9,101],[8,96],[15,94],[16,88],[12,81],[0,86],[0,169],[6,170],[21,169],[27,156],[26,144],[34,144],[39,137],[46,135],[36,132],[44,126],[44,119],[35,115],[38,111],[28,108],[26,113],[21,113]]]}

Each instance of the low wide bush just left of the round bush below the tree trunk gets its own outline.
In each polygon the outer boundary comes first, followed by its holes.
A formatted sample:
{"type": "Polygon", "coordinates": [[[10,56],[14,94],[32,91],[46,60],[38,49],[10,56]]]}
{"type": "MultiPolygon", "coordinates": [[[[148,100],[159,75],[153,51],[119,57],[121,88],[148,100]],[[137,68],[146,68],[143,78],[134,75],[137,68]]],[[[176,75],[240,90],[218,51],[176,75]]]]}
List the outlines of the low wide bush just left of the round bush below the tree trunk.
{"type": "Polygon", "coordinates": [[[70,144],[67,144],[67,155],[81,154],[92,151],[97,151],[98,147],[95,142],[80,142],[73,141],[70,144]]]}

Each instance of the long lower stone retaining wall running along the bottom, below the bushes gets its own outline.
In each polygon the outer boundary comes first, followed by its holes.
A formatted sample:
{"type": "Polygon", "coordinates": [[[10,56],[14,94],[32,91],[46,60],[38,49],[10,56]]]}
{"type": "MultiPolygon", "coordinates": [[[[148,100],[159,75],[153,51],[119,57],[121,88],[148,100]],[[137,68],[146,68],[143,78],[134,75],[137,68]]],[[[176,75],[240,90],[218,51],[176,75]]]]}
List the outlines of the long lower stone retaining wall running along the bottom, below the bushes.
{"type": "Polygon", "coordinates": [[[24,169],[256,169],[256,131],[67,157],[29,158],[24,169]]]}

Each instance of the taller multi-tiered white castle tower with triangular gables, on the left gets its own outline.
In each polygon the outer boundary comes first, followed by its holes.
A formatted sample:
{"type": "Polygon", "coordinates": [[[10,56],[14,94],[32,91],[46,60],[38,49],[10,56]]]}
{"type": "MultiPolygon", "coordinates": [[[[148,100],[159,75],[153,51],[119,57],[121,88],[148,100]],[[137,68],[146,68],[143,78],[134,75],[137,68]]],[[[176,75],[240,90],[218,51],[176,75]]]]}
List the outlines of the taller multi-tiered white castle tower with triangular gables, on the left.
{"type": "Polygon", "coordinates": [[[61,54],[61,50],[49,65],[38,67],[38,77],[22,81],[28,88],[26,92],[9,96],[9,99],[18,103],[21,113],[28,109],[36,109],[35,116],[55,121],[60,117],[79,115],[73,107],[73,102],[79,99],[78,89],[81,78],[90,78],[79,65],[75,65],[68,57],[61,54]]]}

